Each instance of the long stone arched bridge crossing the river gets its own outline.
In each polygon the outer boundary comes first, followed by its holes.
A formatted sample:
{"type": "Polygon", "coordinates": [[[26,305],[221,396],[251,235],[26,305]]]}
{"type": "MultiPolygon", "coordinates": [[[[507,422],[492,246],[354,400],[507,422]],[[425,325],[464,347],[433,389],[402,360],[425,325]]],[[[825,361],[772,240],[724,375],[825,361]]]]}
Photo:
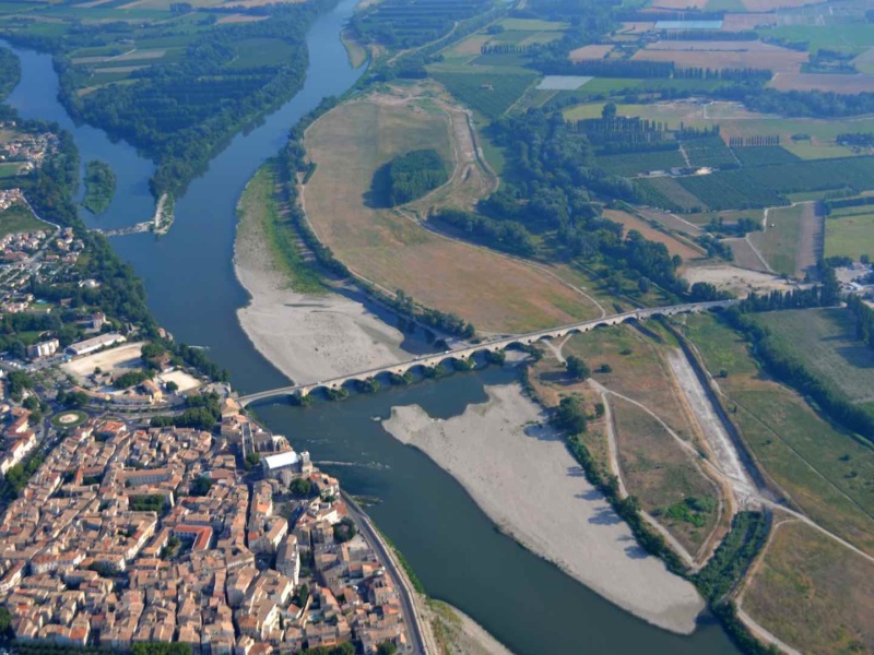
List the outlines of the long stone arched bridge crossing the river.
{"type": "Polygon", "coordinates": [[[375,378],[380,373],[394,373],[398,376],[402,376],[406,371],[415,367],[434,368],[449,359],[468,360],[474,355],[476,355],[476,353],[486,353],[486,352],[497,353],[513,345],[528,346],[544,338],[562,338],[563,336],[566,336],[568,334],[589,332],[590,330],[594,330],[595,327],[602,327],[607,325],[618,325],[619,323],[624,323],[625,321],[631,321],[631,320],[642,321],[657,315],[672,317],[678,313],[699,313],[701,311],[709,311],[711,309],[723,309],[725,307],[729,307],[730,305],[733,305],[734,302],[735,300],[718,300],[712,302],[688,302],[686,305],[672,305],[669,307],[649,307],[642,309],[635,309],[633,311],[626,311],[624,313],[613,314],[612,317],[604,317],[592,321],[583,321],[580,323],[574,323],[571,325],[564,325],[562,327],[553,327],[551,330],[542,330],[540,332],[530,332],[528,334],[517,334],[513,336],[496,338],[473,346],[468,346],[465,348],[458,348],[457,350],[435,353],[434,355],[421,355],[408,361],[399,361],[398,364],[382,366],[379,368],[374,368],[366,371],[359,371],[356,373],[350,373],[349,376],[342,376],[340,378],[333,378],[331,380],[323,380],[321,382],[311,382],[309,384],[294,384],[292,386],[282,386],[280,389],[271,389],[268,391],[251,393],[238,397],[237,402],[245,407],[249,403],[255,403],[256,401],[263,401],[267,398],[272,398],[277,396],[298,395],[303,397],[309,395],[319,388],[340,389],[347,382],[352,381],[364,382],[370,378],[375,378]]]}

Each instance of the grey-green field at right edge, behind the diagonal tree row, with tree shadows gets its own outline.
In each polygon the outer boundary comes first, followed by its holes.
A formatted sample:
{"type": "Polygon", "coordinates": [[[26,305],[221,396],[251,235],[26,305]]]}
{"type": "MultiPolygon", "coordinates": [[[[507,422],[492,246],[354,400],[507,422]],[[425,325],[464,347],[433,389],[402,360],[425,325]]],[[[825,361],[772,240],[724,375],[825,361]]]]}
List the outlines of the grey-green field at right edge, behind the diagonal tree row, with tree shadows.
{"type": "Polygon", "coordinates": [[[874,350],[857,340],[855,322],[849,310],[766,312],[757,314],[756,320],[850,400],[874,401],[874,350]]]}

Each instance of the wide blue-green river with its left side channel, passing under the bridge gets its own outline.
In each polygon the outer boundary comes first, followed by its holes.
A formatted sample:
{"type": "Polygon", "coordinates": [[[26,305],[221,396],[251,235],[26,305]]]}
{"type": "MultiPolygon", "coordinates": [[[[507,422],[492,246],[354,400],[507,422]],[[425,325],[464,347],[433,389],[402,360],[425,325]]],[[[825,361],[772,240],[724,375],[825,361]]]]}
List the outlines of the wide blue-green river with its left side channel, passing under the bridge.
{"type": "MultiPolygon", "coordinates": [[[[324,96],[344,93],[358,78],[339,34],[357,0],[342,0],[308,35],[309,72],[304,88],[246,134],[237,135],[176,203],[176,223],[161,239],[152,235],[113,241],[145,282],[157,319],[189,344],[208,347],[232,371],[241,392],[287,383],[251,345],[236,311],[248,300],[232,264],[234,209],[247,180],[275,154],[291,127],[324,96]]],[[[101,158],[118,177],[115,200],[91,226],[121,227],[150,217],[147,181],[154,166],[126,143],[76,127],[57,102],[50,58],[15,49],[22,82],[9,103],[25,118],[55,120],[70,130],[83,162],[101,158]]],[[[307,449],[321,467],[356,495],[381,502],[369,512],[404,552],[428,594],[459,607],[519,654],[736,653],[722,629],[704,620],[692,636],[677,636],[616,608],[556,567],[500,534],[456,480],[420,451],[400,444],[375,418],[392,406],[422,405],[448,418],[486,401],[485,385],[515,373],[491,368],[373,396],[353,395],[307,409],[262,405],[259,417],[307,449]]]]}

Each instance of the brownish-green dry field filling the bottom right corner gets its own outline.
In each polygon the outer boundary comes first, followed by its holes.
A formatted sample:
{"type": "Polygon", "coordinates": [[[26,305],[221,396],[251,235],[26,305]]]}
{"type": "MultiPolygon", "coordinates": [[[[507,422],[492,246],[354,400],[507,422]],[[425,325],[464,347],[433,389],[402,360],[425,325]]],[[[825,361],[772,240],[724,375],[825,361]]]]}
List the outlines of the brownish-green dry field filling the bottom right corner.
{"type": "Polygon", "coordinates": [[[742,607],[806,653],[874,651],[874,564],[796,521],[775,529],[742,607]]]}

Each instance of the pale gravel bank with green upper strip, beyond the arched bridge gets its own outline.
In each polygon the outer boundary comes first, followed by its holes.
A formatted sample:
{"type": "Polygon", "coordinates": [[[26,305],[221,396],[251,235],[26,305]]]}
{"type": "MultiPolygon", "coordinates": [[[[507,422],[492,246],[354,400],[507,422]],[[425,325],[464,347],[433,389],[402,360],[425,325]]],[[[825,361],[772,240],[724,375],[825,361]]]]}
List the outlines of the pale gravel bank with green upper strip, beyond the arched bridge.
{"type": "Polygon", "coordinates": [[[255,347],[296,383],[318,382],[408,359],[403,334],[365,307],[328,290],[305,294],[271,251],[272,178],[257,175],[238,205],[234,270],[250,296],[237,310],[255,347]]]}

